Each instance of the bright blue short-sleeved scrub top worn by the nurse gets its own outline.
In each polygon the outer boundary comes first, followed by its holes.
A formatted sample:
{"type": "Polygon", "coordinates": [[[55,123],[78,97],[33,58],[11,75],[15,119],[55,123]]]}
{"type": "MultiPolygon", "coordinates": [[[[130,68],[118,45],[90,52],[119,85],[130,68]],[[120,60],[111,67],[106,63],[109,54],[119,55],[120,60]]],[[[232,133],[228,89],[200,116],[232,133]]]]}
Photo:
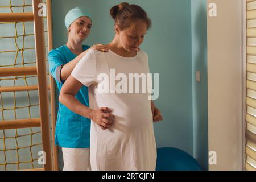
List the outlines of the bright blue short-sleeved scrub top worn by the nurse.
{"type": "MultiPolygon", "coordinates": [[[[90,46],[83,45],[84,51],[90,46]]],[[[77,55],[73,54],[67,46],[61,46],[48,54],[49,71],[55,78],[56,85],[60,91],[64,81],[60,80],[60,70],[62,66],[75,59],[77,55]]],[[[82,86],[76,94],[77,100],[89,107],[88,88],[82,86]]],[[[73,113],[66,106],[59,102],[55,129],[55,145],[67,148],[89,148],[90,146],[90,119],[73,113]]]]}

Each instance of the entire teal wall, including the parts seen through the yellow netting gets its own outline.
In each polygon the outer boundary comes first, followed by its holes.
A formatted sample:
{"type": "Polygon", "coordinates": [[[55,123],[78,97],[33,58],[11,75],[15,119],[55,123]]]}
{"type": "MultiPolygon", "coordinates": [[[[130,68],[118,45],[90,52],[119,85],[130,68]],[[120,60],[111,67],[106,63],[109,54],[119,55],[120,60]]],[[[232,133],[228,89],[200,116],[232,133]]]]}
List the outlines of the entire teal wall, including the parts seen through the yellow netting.
{"type": "MultiPolygon", "coordinates": [[[[13,1],[13,5],[21,5],[22,0],[13,1]]],[[[30,1],[26,1],[31,3],[30,1]]],[[[114,22],[110,18],[109,9],[121,1],[113,0],[53,0],[53,44],[59,47],[67,41],[67,31],[64,26],[64,17],[69,9],[83,6],[93,15],[93,28],[85,44],[109,43],[114,37],[114,22]]],[[[152,19],[152,28],[148,31],[141,48],[148,53],[150,70],[159,73],[159,98],[155,104],[163,113],[164,121],[155,123],[155,138],[158,147],[171,146],[181,148],[195,156],[204,169],[208,169],[208,126],[207,126],[207,12],[205,0],[137,0],[127,1],[143,7],[152,19]],[[201,71],[201,82],[195,82],[195,71],[201,71]]],[[[9,5],[9,1],[1,1],[1,6],[9,5]]],[[[31,11],[31,7],[25,8],[31,11]]],[[[15,9],[15,12],[21,10],[15,9]]],[[[9,12],[1,9],[1,13],[9,12]],[[3,11],[2,11],[3,10],[3,11]]],[[[1,35],[13,36],[14,26],[2,24],[1,35]]],[[[33,24],[26,24],[26,32],[33,31],[33,24]]],[[[22,24],[18,26],[19,34],[23,33],[22,24]]],[[[1,50],[15,49],[13,39],[1,40],[5,44],[1,50]],[[8,42],[9,41],[9,42],[8,42]]],[[[22,38],[18,39],[22,47],[22,38]]],[[[34,44],[30,36],[26,36],[26,47],[34,44]]],[[[34,54],[24,52],[27,61],[34,60],[34,54]]],[[[13,63],[13,54],[2,54],[1,65],[13,63]],[[6,56],[6,57],[5,57],[6,56]]],[[[22,60],[20,53],[18,61],[22,60]]],[[[2,81],[0,86],[12,86],[13,81],[2,81]]],[[[29,85],[35,85],[36,79],[30,79],[29,85]]],[[[16,81],[17,85],[24,85],[23,80],[16,81]]],[[[30,92],[32,104],[38,103],[37,93],[30,92]]],[[[14,105],[13,93],[3,93],[1,102],[4,107],[14,105]]],[[[16,92],[16,99],[20,105],[28,105],[27,92],[16,92]]],[[[38,106],[31,107],[32,118],[39,117],[38,106]]],[[[28,118],[28,109],[18,109],[18,118],[28,118]]],[[[13,110],[5,110],[4,119],[14,119],[13,110]]],[[[3,120],[3,118],[1,118],[3,120]]],[[[34,132],[39,129],[33,129],[34,132]]],[[[29,129],[18,129],[18,134],[30,134],[29,129]]],[[[5,130],[5,137],[15,136],[14,130],[5,130]]],[[[3,130],[0,138],[4,137],[3,130]]],[[[27,145],[24,139],[19,141],[20,146],[27,145]]],[[[7,141],[7,140],[6,140],[7,141]]],[[[40,133],[33,138],[33,144],[40,143],[40,133]]],[[[30,144],[30,143],[29,143],[30,144]]],[[[8,139],[7,148],[15,148],[15,139],[8,139]]],[[[3,140],[0,139],[0,151],[3,150],[3,140]]],[[[34,159],[41,146],[32,147],[34,159]]],[[[16,162],[15,151],[7,154],[8,162],[16,162]]],[[[30,159],[29,151],[19,151],[21,160],[30,159]]],[[[0,152],[0,163],[3,162],[3,152],[0,152]]],[[[37,162],[34,162],[35,167],[37,162]]],[[[60,151],[60,169],[63,161],[60,151]]],[[[31,165],[20,165],[20,168],[31,168],[31,165]]],[[[16,165],[9,165],[7,169],[16,169],[16,165]]],[[[1,167],[0,170],[3,170],[1,167]]]]}

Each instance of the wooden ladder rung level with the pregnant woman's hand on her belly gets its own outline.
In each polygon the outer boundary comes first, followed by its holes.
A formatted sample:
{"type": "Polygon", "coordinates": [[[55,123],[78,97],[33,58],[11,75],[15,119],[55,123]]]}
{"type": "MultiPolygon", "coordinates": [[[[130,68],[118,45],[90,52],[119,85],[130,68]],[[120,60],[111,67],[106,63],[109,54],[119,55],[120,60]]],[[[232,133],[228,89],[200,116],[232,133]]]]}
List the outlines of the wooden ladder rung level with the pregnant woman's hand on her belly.
{"type": "Polygon", "coordinates": [[[40,127],[40,121],[41,119],[39,118],[0,121],[0,130],[40,127]]]}

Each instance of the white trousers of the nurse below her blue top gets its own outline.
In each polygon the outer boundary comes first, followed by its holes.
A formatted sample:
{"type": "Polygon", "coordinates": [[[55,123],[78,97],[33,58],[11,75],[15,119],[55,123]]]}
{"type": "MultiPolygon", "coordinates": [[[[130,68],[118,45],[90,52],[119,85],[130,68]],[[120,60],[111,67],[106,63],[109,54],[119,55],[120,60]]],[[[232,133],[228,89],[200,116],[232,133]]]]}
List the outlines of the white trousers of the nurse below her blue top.
{"type": "Polygon", "coordinates": [[[64,148],[63,171],[90,171],[90,148],[64,148]]]}

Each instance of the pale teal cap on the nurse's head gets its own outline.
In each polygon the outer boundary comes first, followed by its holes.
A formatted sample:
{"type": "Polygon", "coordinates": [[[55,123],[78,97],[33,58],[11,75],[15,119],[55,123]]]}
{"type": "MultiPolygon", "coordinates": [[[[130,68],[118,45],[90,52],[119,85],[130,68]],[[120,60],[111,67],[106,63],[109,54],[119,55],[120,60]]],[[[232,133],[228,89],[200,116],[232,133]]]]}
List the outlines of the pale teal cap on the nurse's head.
{"type": "Polygon", "coordinates": [[[72,10],[69,10],[67,15],[65,16],[66,28],[68,29],[71,23],[73,23],[73,21],[75,21],[77,18],[80,18],[81,16],[87,16],[92,20],[91,18],[92,15],[90,15],[90,13],[85,9],[81,9],[80,7],[75,7],[72,10]]]}

